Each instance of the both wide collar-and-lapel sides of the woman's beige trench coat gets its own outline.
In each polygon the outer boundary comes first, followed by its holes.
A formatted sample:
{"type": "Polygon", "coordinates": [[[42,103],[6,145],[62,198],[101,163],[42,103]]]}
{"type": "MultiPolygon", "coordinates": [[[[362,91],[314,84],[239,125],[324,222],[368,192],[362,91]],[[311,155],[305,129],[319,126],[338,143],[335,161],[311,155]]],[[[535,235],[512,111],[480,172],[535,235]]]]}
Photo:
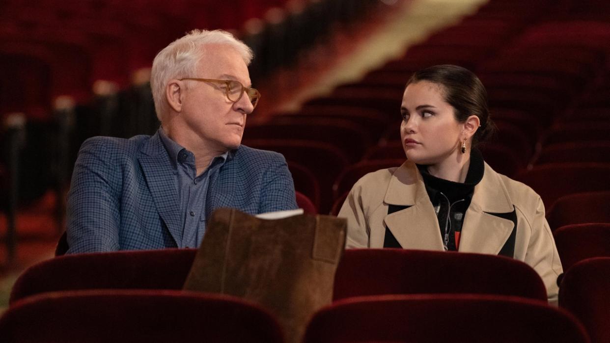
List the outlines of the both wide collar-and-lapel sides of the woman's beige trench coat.
{"type": "MultiPolygon", "coordinates": [[[[404,249],[443,250],[439,222],[422,175],[406,161],[392,177],[384,197],[387,205],[407,206],[388,214],[384,222],[404,249]]],[[[514,211],[500,175],[485,164],[464,217],[459,251],[497,254],[514,228],[512,221],[489,213],[514,211]]]]}

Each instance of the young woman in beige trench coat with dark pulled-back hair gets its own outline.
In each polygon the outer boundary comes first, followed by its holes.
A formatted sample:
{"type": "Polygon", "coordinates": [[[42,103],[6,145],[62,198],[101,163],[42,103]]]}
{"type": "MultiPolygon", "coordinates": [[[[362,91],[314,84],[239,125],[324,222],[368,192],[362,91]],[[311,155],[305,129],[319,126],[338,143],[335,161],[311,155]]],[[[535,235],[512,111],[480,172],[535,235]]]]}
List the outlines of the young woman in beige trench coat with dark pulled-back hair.
{"type": "Polygon", "coordinates": [[[454,65],[415,72],[401,115],[407,161],[351,189],[339,212],[347,247],[510,256],[533,267],[556,302],[562,267],[542,200],[493,171],[475,147],[495,128],[478,77],[454,65]]]}

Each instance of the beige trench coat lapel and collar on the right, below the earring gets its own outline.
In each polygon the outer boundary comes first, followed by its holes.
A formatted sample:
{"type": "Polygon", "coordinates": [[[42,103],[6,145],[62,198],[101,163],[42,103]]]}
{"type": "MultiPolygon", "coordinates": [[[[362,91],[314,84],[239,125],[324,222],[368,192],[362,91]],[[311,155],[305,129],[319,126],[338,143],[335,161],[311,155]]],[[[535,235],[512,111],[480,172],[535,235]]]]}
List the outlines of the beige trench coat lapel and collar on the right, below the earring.
{"type": "Polygon", "coordinates": [[[512,221],[489,213],[514,210],[500,176],[485,163],[483,179],[475,186],[472,202],[464,216],[459,251],[497,255],[512,230],[517,228],[512,221]]]}

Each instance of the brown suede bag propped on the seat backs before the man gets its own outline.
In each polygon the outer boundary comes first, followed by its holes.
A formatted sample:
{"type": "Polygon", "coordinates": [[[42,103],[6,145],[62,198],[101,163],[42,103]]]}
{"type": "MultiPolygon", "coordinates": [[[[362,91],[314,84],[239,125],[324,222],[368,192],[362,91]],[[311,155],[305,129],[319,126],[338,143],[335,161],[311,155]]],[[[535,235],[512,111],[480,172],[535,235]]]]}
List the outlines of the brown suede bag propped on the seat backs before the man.
{"type": "Polygon", "coordinates": [[[312,315],[332,300],[346,221],[303,214],[265,220],[230,208],[212,213],[184,284],[259,303],[300,342],[312,315]]]}

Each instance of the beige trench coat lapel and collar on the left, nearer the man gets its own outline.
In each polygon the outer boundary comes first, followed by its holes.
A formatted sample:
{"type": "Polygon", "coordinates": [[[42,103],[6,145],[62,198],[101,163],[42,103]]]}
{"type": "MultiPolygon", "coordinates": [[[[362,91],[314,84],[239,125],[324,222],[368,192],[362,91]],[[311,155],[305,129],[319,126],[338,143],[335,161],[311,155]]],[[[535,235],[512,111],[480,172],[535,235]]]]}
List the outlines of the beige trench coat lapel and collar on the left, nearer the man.
{"type": "Polygon", "coordinates": [[[387,214],[384,223],[404,249],[443,250],[439,222],[416,169],[406,161],[392,175],[384,202],[409,208],[387,214]]]}

